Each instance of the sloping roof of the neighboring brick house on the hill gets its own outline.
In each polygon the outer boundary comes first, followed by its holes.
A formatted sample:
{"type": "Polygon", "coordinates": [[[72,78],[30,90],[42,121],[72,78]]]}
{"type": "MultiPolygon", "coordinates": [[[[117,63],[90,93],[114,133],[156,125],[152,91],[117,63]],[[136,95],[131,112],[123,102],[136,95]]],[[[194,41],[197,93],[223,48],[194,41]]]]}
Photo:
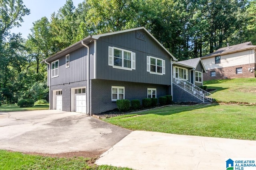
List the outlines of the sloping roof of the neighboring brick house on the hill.
{"type": "Polygon", "coordinates": [[[252,45],[252,43],[249,41],[246,43],[229,46],[229,48],[223,47],[223,48],[220,48],[220,49],[216,50],[215,52],[205,55],[201,58],[215,57],[215,56],[224,55],[224,54],[228,54],[228,53],[244,51],[247,49],[256,49],[256,45],[252,45]]]}

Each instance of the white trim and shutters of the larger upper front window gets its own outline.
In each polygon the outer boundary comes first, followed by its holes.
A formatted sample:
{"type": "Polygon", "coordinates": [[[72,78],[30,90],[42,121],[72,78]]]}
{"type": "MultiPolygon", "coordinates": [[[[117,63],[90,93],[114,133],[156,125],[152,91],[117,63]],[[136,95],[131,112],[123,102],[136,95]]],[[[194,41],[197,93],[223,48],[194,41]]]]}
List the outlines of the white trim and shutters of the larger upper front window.
{"type": "Polygon", "coordinates": [[[112,66],[113,68],[118,68],[118,69],[123,69],[123,70],[130,70],[130,71],[136,70],[136,54],[133,53],[132,51],[108,46],[108,65],[112,66]],[[114,65],[114,49],[122,51],[122,66],[114,65]],[[131,68],[124,67],[124,51],[131,53],[131,68]]]}

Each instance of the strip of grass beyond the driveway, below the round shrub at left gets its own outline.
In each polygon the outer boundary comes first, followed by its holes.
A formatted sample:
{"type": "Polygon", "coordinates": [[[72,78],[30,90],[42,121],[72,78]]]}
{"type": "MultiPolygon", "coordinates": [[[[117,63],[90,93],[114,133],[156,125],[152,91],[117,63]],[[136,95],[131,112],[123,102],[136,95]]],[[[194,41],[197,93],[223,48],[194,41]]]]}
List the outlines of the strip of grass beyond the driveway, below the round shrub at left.
{"type": "Polygon", "coordinates": [[[46,110],[49,109],[49,104],[34,105],[33,107],[19,107],[17,105],[2,105],[0,111],[29,111],[29,110],[46,110]]]}

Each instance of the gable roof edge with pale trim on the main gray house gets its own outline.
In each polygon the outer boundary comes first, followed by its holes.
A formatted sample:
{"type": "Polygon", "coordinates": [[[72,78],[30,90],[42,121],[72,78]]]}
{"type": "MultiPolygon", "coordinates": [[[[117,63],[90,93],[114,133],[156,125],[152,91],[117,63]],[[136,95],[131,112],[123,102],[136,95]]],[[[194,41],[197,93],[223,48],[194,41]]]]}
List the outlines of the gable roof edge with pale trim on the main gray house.
{"type": "Polygon", "coordinates": [[[137,27],[137,28],[126,29],[126,30],[122,30],[122,31],[111,32],[111,33],[104,33],[104,34],[98,34],[98,35],[89,35],[88,37],[85,37],[84,39],[82,39],[82,40],[80,40],[80,41],[70,45],[69,47],[67,47],[67,48],[59,51],[58,53],[52,55],[51,57],[48,57],[47,59],[44,59],[42,62],[48,61],[48,60],[53,59],[53,58],[58,58],[64,52],[66,52],[68,54],[71,51],[74,51],[74,50],[76,50],[76,49],[78,49],[80,47],[83,47],[82,41],[85,44],[88,44],[88,43],[90,43],[93,40],[99,39],[100,37],[104,37],[104,36],[108,36],[108,35],[115,35],[115,34],[119,34],[119,33],[126,33],[126,32],[129,32],[129,31],[136,31],[136,30],[141,30],[141,29],[146,31],[146,33],[148,33],[148,35],[150,37],[152,37],[152,39],[154,39],[154,41],[156,41],[156,43],[158,43],[158,45],[160,45],[164,49],[164,51],[166,51],[166,53],[168,53],[168,55],[170,55],[170,57],[172,57],[172,59],[174,61],[177,61],[177,59],[145,27],[137,27]]]}

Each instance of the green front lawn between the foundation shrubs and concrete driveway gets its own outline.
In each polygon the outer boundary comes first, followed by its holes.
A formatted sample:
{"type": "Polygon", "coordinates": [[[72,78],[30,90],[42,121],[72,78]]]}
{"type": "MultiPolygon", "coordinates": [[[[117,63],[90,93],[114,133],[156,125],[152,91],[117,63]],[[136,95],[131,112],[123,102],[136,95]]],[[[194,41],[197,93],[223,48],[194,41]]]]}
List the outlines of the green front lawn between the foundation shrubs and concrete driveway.
{"type": "Polygon", "coordinates": [[[168,106],[103,120],[130,130],[256,140],[256,106],[168,106]]]}

